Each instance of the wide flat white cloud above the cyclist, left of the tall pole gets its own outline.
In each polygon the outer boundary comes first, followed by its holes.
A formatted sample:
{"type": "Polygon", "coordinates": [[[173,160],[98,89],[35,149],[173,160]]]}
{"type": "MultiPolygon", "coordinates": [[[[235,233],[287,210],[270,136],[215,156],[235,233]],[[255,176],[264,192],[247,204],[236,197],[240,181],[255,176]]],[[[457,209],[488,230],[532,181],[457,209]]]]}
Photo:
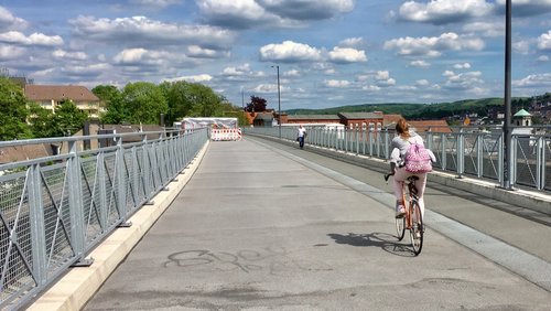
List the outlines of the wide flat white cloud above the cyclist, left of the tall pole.
{"type": "Polygon", "coordinates": [[[484,49],[484,41],[478,37],[461,36],[456,33],[443,33],[440,36],[423,37],[400,37],[385,42],[385,50],[398,50],[403,56],[437,57],[442,51],[474,50],[484,49]]]}

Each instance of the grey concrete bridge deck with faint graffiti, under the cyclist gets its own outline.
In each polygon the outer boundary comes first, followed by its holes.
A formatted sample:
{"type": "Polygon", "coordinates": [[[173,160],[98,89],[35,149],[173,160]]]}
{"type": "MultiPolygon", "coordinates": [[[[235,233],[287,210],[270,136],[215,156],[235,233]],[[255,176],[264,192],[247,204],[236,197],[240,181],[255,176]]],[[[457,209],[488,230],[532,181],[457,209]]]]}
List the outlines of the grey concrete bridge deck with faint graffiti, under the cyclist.
{"type": "MultiPolygon", "coordinates": [[[[257,138],[213,142],[86,305],[101,262],[73,296],[61,280],[30,309],[549,310],[548,215],[435,183],[425,201],[415,257],[380,172],[257,138]]],[[[128,251],[120,239],[111,248],[128,251]]]]}

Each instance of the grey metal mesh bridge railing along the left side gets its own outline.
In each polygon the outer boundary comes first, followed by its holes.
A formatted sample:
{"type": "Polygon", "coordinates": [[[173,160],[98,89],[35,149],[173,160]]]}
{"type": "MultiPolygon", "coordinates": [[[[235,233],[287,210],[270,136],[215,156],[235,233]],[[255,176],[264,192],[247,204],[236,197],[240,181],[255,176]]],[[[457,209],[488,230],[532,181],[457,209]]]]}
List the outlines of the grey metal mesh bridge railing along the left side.
{"type": "Polygon", "coordinates": [[[206,129],[1,141],[66,151],[0,164],[0,309],[23,305],[127,221],[207,141],[206,129]],[[85,150],[91,140],[97,149],[85,150]]]}

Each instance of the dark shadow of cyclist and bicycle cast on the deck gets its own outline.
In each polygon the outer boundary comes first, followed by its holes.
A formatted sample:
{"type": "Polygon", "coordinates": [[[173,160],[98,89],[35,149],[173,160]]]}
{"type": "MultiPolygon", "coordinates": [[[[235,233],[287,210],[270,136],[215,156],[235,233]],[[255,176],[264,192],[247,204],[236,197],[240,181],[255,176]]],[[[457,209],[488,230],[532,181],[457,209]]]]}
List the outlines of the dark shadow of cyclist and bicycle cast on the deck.
{"type": "Polygon", "coordinates": [[[387,233],[370,233],[370,234],[327,234],[335,240],[336,244],[347,244],[357,247],[379,247],[382,250],[403,257],[415,257],[409,238],[404,237],[401,242],[395,235],[387,233]]]}

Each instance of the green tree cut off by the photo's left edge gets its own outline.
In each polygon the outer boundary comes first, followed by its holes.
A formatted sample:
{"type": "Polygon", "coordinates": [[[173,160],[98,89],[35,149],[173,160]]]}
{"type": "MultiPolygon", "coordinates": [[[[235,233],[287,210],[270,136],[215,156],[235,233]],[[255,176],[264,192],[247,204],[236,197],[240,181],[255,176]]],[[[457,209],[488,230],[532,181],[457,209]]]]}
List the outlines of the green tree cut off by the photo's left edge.
{"type": "Polygon", "coordinates": [[[26,125],[26,104],[21,87],[6,77],[0,77],[0,140],[32,137],[26,125]]]}

